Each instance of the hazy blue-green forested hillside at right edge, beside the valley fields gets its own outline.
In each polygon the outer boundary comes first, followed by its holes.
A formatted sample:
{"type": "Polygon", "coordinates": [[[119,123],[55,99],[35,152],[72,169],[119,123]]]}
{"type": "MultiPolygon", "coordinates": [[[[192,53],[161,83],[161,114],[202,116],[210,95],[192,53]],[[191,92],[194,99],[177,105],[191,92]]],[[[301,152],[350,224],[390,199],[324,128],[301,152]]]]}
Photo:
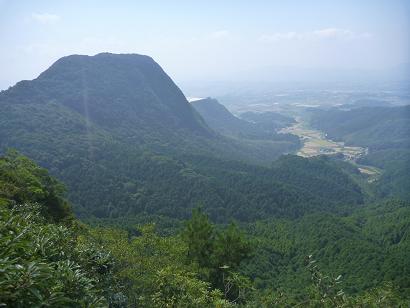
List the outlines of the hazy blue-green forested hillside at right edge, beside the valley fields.
{"type": "Polygon", "coordinates": [[[410,106],[313,112],[311,125],[347,145],[368,148],[358,161],[383,169],[380,196],[410,200],[410,106]]]}

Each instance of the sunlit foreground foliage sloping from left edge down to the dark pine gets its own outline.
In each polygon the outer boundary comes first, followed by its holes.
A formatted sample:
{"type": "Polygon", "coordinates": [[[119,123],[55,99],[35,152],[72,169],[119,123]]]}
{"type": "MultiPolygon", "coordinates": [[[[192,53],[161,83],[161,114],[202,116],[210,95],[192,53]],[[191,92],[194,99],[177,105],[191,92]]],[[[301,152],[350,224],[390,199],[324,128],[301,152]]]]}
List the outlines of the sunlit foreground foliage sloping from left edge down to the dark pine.
{"type": "MultiPolygon", "coordinates": [[[[1,305],[229,306],[189,266],[194,260],[178,236],[159,237],[152,225],[137,236],[90,229],[72,218],[66,202],[57,221],[50,215],[56,204],[39,195],[63,202],[62,190],[55,191],[61,184],[15,152],[1,158],[1,167],[1,305]]],[[[229,230],[220,236],[230,238],[229,230]]]]}

